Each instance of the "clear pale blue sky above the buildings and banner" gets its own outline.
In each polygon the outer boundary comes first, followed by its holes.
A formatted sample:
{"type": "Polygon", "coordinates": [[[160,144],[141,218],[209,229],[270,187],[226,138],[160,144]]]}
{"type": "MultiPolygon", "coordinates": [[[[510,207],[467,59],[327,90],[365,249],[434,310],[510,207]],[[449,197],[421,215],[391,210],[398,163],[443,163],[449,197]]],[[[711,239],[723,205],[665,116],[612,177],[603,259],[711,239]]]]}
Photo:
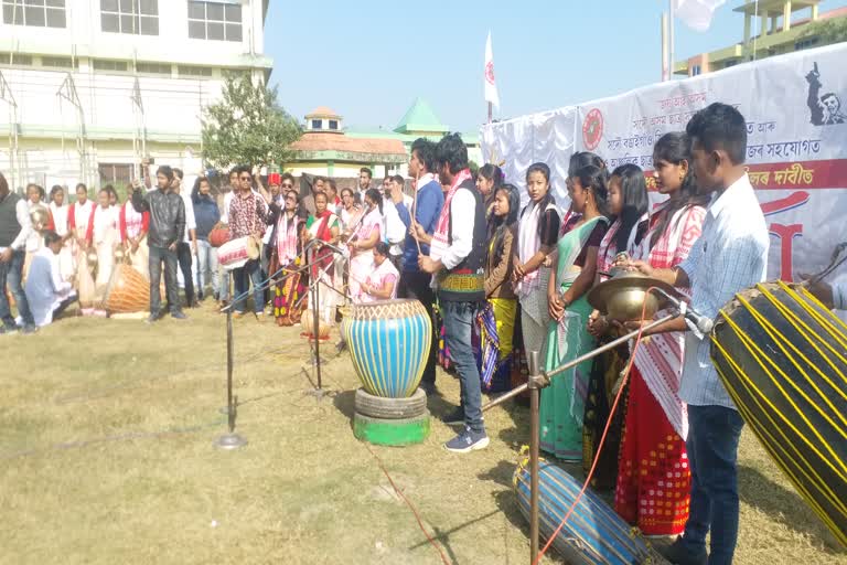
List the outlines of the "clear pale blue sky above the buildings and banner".
{"type": "MultiPolygon", "coordinates": [[[[711,29],[676,23],[676,58],[740,41],[729,0],[711,29]]],[[[847,4],[825,0],[821,11],[847,4]]],[[[299,119],[329,106],[346,126],[393,129],[420,96],[453,130],[485,120],[491,30],[501,109],[513,117],[622,93],[661,78],[666,0],[272,0],[265,50],[271,82],[299,119]]],[[[795,15],[795,18],[797,18],[795,15]]]]}

